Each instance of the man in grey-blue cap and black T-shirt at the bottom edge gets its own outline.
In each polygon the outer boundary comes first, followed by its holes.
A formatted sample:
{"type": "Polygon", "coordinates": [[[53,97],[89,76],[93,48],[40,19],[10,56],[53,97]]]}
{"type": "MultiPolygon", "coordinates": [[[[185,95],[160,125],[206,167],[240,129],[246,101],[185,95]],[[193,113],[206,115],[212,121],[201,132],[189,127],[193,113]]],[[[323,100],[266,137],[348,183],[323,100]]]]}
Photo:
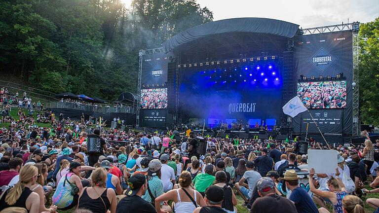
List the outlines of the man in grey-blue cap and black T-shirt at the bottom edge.
{"type": "Polygon", "coordinates": [[[275,183],[271,178],[260,178],[257,189],[261,197],[254,202],[251,213],[297,213],[290,200],[275,194],[275,183]]]}

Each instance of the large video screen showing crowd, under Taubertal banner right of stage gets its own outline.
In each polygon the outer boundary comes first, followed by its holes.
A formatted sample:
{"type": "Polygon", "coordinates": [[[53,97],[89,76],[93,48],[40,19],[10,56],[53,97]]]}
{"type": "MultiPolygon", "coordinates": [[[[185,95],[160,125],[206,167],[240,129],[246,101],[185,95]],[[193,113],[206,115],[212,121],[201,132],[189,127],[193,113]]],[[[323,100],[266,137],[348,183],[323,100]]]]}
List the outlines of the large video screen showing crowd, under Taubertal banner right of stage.
{"type": "Polygon", "coordinates": [[[346,81],[299,82],[298,96],[309,109],[345,108],[346,81]]]}

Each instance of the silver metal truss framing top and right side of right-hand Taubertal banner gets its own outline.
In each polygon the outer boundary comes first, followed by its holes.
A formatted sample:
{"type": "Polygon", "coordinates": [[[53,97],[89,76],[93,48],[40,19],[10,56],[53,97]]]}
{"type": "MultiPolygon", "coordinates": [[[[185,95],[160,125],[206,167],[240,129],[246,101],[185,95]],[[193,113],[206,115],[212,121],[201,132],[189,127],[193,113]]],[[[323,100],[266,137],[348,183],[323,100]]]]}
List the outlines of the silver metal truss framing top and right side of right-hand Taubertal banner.
{"type": "Polygon", "coordinates": [[[360,122],[359,122],[359,84],[358,84],[358,62],[359,62],[359,22],[330,25],[325,27],[315,27],[308,29],[301,29],[303,36],[323,33],[335,33],[340,31],[351,31],[353,34],[353,128],[352,136],[360,135],[360,122]]]}

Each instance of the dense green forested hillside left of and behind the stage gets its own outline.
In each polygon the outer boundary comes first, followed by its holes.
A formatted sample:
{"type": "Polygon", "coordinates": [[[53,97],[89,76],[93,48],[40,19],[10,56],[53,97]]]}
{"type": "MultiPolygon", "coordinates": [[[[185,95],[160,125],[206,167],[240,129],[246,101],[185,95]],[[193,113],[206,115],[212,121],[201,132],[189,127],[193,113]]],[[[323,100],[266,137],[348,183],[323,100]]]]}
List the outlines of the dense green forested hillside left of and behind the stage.
{"type": "Polygon", "coordinates": [[[106,100],[136,92],[138,50],[213,20],[195,0],[1,0],[0,11],[0,76],[106,100]]]}

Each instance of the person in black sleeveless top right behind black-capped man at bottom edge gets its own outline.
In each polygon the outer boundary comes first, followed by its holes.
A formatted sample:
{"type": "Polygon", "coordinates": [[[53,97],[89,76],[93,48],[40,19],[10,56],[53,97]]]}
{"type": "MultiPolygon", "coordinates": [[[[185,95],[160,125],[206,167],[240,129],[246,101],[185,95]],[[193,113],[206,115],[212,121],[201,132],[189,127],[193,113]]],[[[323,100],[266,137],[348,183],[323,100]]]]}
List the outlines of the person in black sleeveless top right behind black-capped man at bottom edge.
{"type": "Polygon", "coordinates": [[[237,198],[231,187],[227,184],[227,174],[224,171],[218,171],[215,174],[215,178],[213,185],[217,185],[224,190],[224,201],[221,208],[227,213],[235,213],[234,208],[237,205],[237,198]]]}

